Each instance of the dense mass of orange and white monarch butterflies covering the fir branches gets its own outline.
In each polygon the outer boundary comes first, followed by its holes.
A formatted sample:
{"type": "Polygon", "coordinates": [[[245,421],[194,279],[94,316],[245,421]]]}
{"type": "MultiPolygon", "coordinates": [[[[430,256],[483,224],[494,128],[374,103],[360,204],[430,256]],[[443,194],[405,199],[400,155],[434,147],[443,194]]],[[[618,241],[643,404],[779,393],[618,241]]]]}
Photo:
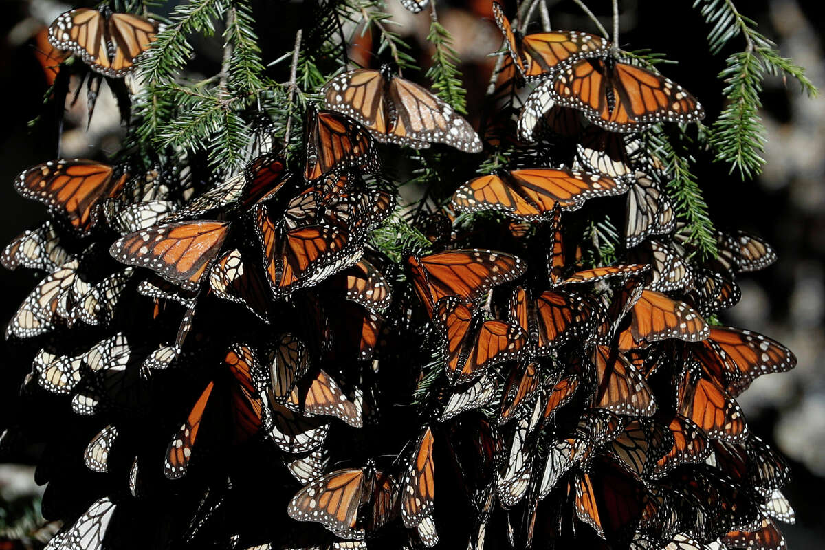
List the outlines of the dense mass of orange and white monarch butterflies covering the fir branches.
{"type": "MultiPolygon", "coordinates": [[[[49,548],[784,548],[790,472],[736,397],[796,359],[716,321],[775,252],[719,232],[704,256],[643,133],[700,104],[493,9],[537,87],[511,162],[436,211],[398,204],[380,153],[492,142],[386,67],[319,90],[299,160],[264,125],[205,186],[196,160],[18,176],[50,220],[0,257],[42,277],[7,325],[34,358],[0,444],[44,438],[49,548]],[[420,238],[399,260],[377,235],[401,224],[420,238]]],[[[151,41],[121,15],[68,12],[53,38],[117,76],[151,41]]]]}

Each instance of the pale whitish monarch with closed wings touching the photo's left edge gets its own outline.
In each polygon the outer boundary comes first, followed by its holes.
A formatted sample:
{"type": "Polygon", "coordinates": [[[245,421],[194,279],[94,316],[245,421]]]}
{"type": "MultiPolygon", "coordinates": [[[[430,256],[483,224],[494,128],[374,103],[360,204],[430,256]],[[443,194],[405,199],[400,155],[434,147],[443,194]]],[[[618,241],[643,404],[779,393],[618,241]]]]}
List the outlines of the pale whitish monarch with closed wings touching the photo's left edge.
{"type": "Polygon", "coordinates": [[[7,270],[23,266],[30,270],[54,271],[71,258],[60,240],[54,225],[46,221],[39,228],[26,229],[9,242],[2,251],[0,264],[7,270]]]}

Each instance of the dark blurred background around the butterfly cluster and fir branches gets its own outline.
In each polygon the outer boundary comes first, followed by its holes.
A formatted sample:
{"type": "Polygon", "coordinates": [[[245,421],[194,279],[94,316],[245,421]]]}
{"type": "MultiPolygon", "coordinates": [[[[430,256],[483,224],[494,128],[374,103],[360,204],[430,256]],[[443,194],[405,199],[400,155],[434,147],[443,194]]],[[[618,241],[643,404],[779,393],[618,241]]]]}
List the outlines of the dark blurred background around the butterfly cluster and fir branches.
{"type": "MultiPolygon", "coordinates": [[[[167,2],[158,8],[168,12],[167,2]]],[[[261,12],[277,15],[283,2],[262,0],[261,12]]],[[[388,9],[401,26],[405,40],[419,49],[420,65],[427,67],[430,53],[425,37],[429,16],[404,10],[398,0],[388,9]]],[[[681,2],[621,0],[621,42],[625,49],[649,48],[664,52],[678,64],[662,67],[668,77],[681,82],[700,98],[714,120],[721,110],[721,84],[709,75],[724,68],[725,52],[711,57],[705,35],[708,28],[691,0],[681,2]]],[[[808,77],[825,87],[823,26],[817,0],[740,0],[739,9],[759,24],[760,31],[779,45],[781,53],[807,68],[808,77]]],[[[54,78],[45,52],[46,26],[73,5],[52,0],[3,0],[0,19],[0,91],[3,101],[0,131],[0,245],[25,228],[45,219],[40,204],[16,195],[12,181],[17,173],[37,162],[54,158],[58,125],[54,110],[45,110],[43,96],[54,78]],[[35,125],[30,120],[40,115],[35,125]]],[[[91,3],[85,5],[93,5],[91,3]]],[[[595,31],[570,0],[548,0],[554,28],[595,31]]],[[[609,26],[610,2],[591,0],[587,5],[609,26]]],[[[492,20],[489,0],[438,2],[441,23],[455,36],[469,110],[480,104],[495,63],[489,54],[501,44],[492,20]]],[[[261,21],[283,21],[261,17],[261,21]]],[[[285,28],[290,28],[285,26],[285,28]]],[[[291,49],[291,36],[261,32],[265,61],[291,49]],[[267,54],[271,52],[271,57],[267,54]]],[[[218,33],[219,35],[219,33],[218,33]]],[[[201,52],[199,63],[220,63],[220,45],[193,38],[201,52]],[[200,43],[199,43],[200,41],[200,43]]],[[[733,40],[735,43],[736,40],[733,40]]],[[[365,55],[369,44],[352,52],[365,55]]],[[[733,51],[733,50],[732,50],[733,51]]],[[[196,66],[193,70],[197,71],[196,66]]],[[[209,70],[204,68],[205,73],[209,70]]],[[[405,76],[407,76],[405,74],[405,76]]],[[[422,78],[422,76],[420,77],[422,78]]],[[[71,98],[70,98],[71,99],[71,98]]],[[[742,301],[722,315],[722,321],[762,332],[781,341],[799,358],[788,374],[764,376],[739,398],[748,424],[763,439],[781,449],[793,464],[794,482],[785,489],[797,514],[795,525],[783,525],[790,548],[823,548],[825,541],[825,100],[809,99],[793,83],[775,78],[766,83],[762,118],[767,128],[766,170],[756,181],[742,182],[725,167],[703,163],[697,167],[714,223],[722,229],[740,228],[764,237],[779,253],[779,261],[766,270],[742,274],[742,301]]],[[[63,134],[64,157],[105,158],[120,148],[125,130],[106,85],[92,124],[86,129],[85,92],[68,110],[63,134]]],[[[475,112],[478,112],[476,110],[475,112]]],[[[706,122],[708,121],[706,120],[706,122]]],[[[459,182],[456,182],[459,183],[459,182]]],[[[35,284],[31,271],[0,268],[0,319],[7,319],[35,284]]],[[[13,346],[0,343],[0,432],[15,407],[22,377],[30,370],[29,358],[13,346]]],[[[49,426],[45,425],[44,430],[49,426]]],[[[0,550],[12,547],[7,538],[35,534],[48,539],[57,526],[42,524],[37,515],[44,487],[33,480],[33,464],[41,449],[26,449],[16,456],[0,456],[0,550]],[[7,538],[5,538],[7,537],[7,538]],[[4,542],[5,541],[5,542],[4,542]]]]}

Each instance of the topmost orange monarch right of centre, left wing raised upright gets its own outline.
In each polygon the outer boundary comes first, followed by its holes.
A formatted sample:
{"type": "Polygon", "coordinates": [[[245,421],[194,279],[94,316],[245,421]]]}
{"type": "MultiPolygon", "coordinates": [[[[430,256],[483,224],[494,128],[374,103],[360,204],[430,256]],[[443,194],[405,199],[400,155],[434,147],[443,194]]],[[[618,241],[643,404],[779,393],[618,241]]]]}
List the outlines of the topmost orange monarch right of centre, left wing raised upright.
{"type": "Polygon", "coordinates": [[[516,35],[497,2],[493,2],[493,14],[513,62],[521,76],[528,80],[545,78],[577,59],[604,55],[610,50],[610,42],[586,32],[555,31],[516,35]]]}

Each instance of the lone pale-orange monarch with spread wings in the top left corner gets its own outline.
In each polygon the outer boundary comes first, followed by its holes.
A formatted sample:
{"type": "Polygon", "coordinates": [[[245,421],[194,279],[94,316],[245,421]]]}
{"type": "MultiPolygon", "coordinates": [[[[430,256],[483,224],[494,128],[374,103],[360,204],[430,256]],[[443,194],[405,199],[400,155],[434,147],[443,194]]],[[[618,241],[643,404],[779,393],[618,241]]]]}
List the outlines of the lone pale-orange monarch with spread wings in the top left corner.
{"type": "Polygon", "coordinates": [[[79,7],[54,20],[49,41],[80,56],[97,73],[122,78],[155,40],[158,28],[156,21],[132,13],[79,7]]]}

